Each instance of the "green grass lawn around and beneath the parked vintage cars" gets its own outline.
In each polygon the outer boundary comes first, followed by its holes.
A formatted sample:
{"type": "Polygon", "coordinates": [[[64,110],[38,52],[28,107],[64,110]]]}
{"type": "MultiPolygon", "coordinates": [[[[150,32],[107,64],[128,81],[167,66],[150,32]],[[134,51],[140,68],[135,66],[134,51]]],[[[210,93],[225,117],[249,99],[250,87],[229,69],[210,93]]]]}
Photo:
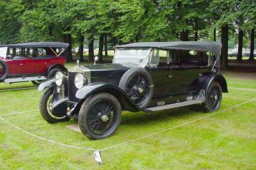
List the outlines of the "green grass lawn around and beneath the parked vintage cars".
{"type": "MultiPolygon", "coordinates": [[[[70,66],[72,64],[68,64],[70,66]]],[[[225,74],[229,87],[256,89],[255,78],[225,74]]],[[[253,75],[252,75],[253,76],[253,75]]],[[[32,83],[0,84],[0,89],[35,87],[32,83]]],[[[0,92],[0,116],[38,109],[42,92],[37,89],[0,92]]],[[[256,91],[229,89],[220,110],[256,97],[256,91]]],[[[39,140],[0,120],[0,169],[256,169],[256,100],[194,123],[102,151],[103,164],[93,151],[71,149],[39,140]]],[[[66,125],[50,125],[39,111],[2,116],[37,136],[67,145],[102,149],[207,116],[201,105],[152,114],[122,114],[116,134],[89,140],[66,125]]]]}

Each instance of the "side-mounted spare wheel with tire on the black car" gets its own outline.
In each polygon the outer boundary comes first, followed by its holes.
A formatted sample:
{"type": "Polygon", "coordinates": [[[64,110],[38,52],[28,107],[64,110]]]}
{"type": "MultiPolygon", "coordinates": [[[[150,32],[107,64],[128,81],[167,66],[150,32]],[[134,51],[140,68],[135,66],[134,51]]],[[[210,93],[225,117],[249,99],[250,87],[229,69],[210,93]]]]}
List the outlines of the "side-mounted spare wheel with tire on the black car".
{"type": "Polygon", "coordinates": [[[127,70],[118,85],[127,92],[131,100],[144,109],[149,105],[153,95],[153,81],[149,72],[143,68],[132,68],[127,70]]]}

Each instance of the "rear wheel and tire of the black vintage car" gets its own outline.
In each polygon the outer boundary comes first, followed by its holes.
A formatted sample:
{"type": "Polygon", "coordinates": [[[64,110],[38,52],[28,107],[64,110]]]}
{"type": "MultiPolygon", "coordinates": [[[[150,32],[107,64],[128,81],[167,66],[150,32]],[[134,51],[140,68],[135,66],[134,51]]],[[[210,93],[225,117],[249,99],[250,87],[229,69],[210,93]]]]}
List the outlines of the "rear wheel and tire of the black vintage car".
{"type": "Polygon", "coordinates": [[[206,112],[212,112],[219,109],[222,100],[222,89],[221,85],[216,81],[213,81],[206,92],[205,101],[203,107],[206,112]]]}

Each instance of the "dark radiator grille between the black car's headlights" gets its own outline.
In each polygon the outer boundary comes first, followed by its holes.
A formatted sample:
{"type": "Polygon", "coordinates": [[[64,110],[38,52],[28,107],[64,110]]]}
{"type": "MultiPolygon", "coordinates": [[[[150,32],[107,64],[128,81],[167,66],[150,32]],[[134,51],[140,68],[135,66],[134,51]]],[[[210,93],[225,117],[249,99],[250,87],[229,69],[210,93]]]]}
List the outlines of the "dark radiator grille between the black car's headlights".
{"type": "Polygon", "coordinates": [[[77,72],[68,72],[68,100],[78,102],[79,99],[75,97],[77,87],[75,87],[75,75],[77,72]]]}

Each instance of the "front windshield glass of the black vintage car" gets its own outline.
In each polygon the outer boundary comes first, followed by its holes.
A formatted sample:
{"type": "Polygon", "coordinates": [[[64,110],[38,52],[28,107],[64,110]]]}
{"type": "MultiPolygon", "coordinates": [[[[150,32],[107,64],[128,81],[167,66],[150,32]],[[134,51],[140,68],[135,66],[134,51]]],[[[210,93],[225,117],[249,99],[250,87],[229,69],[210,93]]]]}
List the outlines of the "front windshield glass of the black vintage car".
{"type": "Polygon", "coordinates": [[[150,48],[136,48],[136,49],[125,49],[121,48],[116,50],[113,58],[113,63],[136,63],[138,59],[143,59],[141,63],[142,67],[147,65],[150,48]]]}

